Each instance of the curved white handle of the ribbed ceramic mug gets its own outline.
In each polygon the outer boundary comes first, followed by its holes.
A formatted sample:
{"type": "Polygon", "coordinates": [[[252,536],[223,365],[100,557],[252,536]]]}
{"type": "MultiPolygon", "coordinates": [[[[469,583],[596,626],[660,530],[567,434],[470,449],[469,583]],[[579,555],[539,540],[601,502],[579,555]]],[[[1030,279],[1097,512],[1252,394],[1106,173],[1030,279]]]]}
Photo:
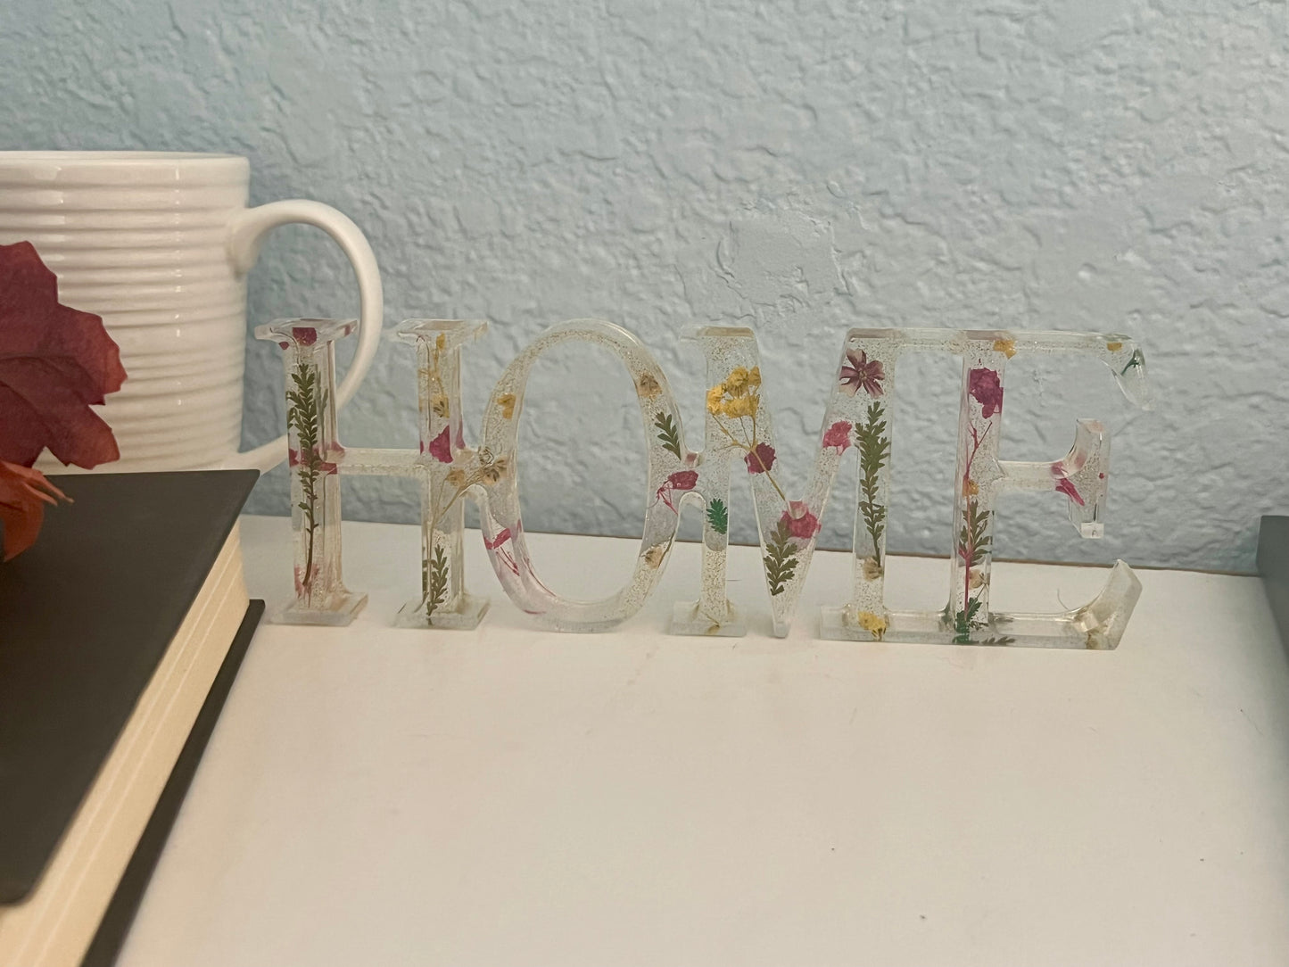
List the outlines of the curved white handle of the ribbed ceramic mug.
{"type": "MultiPolygon", "coordinates": [[[[228,257],[238,276],[246,275],[259,257],[259,248],[271,228],[280,224],[311,224],[330,235],[349,257],[353,273],[358,277],[358,351],[349,364],[349,371],[336,389],[336,407],[344,406],[367,375],[371,360],[380,343],[380,320],[384,302],[380,289],[380,269],[376,257],[362,231],[348,215],[321,201],[293,199],[271,201],[267,205],[238,213],[228,226],[228,257]]],[[[267,473],[286,459],[286,436],[246,453],[233,454],[219,467],[222,469],[258,469],[267,473]]]]}

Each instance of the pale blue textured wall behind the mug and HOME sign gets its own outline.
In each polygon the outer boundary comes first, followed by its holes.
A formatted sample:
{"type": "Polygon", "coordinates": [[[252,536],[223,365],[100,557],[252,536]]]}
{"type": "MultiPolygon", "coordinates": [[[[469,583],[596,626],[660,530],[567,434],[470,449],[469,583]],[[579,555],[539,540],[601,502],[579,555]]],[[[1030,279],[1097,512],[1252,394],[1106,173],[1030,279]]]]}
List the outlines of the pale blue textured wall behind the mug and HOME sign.
{"type": "MultiPolygon", "coordinates": [[[[651,346],[697,427],[701,365],[677,334],[751,324],[798,484],[851,325],[1130,331],[1154,414],[1090,364],[1013,365],[1008,386],[1008,459],[1062,455],[1075,416],[1114,428],[1107,539],[1031,495],[1004,507],[1000,553],[1252,569],[1258,514],[1289,511],[1285,10],[6,0],[0,146],[235,151],[257,201],[336,205],[371,239],[391,324],[491,321],[473,419],[540,329],[602,316],[651,346]]],[[[251,289],[251,324],[357,304],[303,228],[269,241],[251,289]]],[[[638,532],[623,383],[589,352],[539,369],[532,529],[638,532]]],[[[892,547],[944,553],[956,371],[927,358],[905,384],[923,396],[896,414],[892,547]]],[[[280,387],[276,349],[251,343],[247,442],[281,427],[280,387]]],[[[344,438],[414,445],[414,411],[410,355],[385,346],[344,438]]],[[[853,478],[829,544],[848,542],[853,478]]],[[[414,518],[406,485],[348,486],[351,516],[414,518]]],[[[253,508],[285,513],[281,471],[253,508]]],[[[735,514],[748,539],[750,505],[735,514]]]]}

